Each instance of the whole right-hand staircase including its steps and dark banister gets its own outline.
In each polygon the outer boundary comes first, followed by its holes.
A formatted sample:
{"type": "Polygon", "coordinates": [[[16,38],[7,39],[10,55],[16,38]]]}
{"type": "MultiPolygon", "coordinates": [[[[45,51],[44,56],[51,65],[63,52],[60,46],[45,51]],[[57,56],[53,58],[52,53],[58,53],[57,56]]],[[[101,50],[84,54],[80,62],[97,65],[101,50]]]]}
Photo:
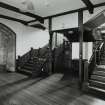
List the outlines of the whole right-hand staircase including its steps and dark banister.
{"type": "Polygon", "coordinates": [[[101,47],[99,45],[98,52],[92,58],[94,60],[88,64],[88,68],[84,71],[84,89],[86,91],[105,93],[105,44],[102,43],[103,45],[100,44],[101,47]],[[89,67],[90,65],[91,67],[89,67]]]}

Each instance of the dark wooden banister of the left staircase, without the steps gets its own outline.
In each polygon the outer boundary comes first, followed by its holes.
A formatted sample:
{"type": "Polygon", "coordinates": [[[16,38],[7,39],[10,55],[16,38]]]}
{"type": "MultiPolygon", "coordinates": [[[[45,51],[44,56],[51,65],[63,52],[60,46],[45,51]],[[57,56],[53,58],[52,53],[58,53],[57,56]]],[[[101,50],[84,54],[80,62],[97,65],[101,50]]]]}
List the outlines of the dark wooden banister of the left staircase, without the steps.
{"type": "MultiPolygon", "coordinates": [[[[49,63],[49,49],[48,47],[33,49],[31,48],[23,56],[18,56],[17,59],[17,69],[24,68],[24,65],[28,63],[29,60],[33,62],[33,75],[34,72],[41,72],[42,69],[45,68],[46,65],[49,63]],[[35,69],[35,70],[34,70],[35,69]]],[[[45,69],[44,69],[45,70],[45,69]]]]}

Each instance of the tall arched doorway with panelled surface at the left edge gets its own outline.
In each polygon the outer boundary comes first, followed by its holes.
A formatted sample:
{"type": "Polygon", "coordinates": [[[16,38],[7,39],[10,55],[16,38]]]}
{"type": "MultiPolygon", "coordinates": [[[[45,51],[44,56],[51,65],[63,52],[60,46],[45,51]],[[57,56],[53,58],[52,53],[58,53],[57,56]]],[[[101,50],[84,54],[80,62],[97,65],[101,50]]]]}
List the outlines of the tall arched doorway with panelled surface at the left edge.
{"type": "Polygon", "coordinates": [[[9,27],[0,23],[0,68],[15,71],[16,34],[9,27]]]}

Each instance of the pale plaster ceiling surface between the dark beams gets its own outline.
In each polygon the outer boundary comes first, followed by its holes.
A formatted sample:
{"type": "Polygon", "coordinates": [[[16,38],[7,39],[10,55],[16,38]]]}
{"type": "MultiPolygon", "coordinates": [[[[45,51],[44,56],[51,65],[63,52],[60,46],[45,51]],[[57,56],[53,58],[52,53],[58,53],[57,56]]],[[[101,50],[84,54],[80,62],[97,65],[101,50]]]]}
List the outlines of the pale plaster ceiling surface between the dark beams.
{"type": "MultiPolygon", "coordinates": [[[[33,14],[46,17],[58,13],[86,7],[82,0],[0,0],[6,4],[19,8],[21,11],[28,11],[33,14]]],[[[90,0],[93,4],[105,2],[105,0],[90,0]]],[[[0,8],[0,14],[12,16],[23,20],[33,20],[7,9],[0,8]]]]}

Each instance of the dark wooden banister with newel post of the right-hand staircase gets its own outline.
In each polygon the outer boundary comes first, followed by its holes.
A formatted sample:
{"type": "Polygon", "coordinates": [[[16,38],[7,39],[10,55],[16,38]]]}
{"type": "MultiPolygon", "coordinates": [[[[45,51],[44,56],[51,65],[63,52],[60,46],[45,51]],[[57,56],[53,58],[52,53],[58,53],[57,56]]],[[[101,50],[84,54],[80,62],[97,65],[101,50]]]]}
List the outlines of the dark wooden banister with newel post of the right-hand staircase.
{"type": "Polygon", "coordinates": [[[88,84],[91,73],[93,72],[96,64],[100,63],[101,55],[105,49],[103,41],[100,41],[96,48],[93,50],[93,54],[90,60],[84,61],[84,84],[88,84]]]}

